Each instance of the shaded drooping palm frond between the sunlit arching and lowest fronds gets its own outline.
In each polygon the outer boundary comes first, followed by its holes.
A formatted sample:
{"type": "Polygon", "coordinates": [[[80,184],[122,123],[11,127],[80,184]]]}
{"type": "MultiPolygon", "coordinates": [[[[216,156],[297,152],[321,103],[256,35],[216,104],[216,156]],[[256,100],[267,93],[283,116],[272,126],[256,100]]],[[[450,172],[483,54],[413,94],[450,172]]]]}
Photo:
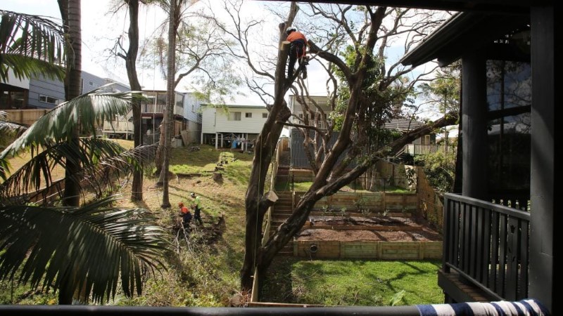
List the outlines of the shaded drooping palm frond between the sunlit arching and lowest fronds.
{"type": "Polygon", "coordinates": [[[32,158],[0,184],[0,199],[4,204],[30,200],[37,202],[38,197],[44,198],[44,192],[53,195],[64,190],[51,174],[56,167],[65,168],[68,159],[82,166],[80,173],[72,175],[75,183],[81,185],[80,189],[93,190],[96,197],[101,197],[110,191],[115,180],[151,164],[155,151],[156,145],[125,150],[113,140],[103,138],[80,138],[78,143],[56,143],[42,151],[33,147],[32,158]],[[30,192],[33,194],[29,195],[30,192]]]}

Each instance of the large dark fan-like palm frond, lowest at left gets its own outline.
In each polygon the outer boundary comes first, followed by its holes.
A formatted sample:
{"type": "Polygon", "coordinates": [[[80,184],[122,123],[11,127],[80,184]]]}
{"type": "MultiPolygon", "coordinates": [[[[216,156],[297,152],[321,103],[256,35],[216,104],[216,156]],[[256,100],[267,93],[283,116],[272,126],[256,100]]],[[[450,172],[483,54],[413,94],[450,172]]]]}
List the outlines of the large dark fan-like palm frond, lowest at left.
{"type": "Polygon", "coordinates": [[[116,209],[116,199],[80,208],[0,206],[0,279],[43,289],[70,285],[83,301],[114,298],[119,282],[126,295],[140,295],[143,275],[165,269],[170,244],[149,211],[116,209]]]}

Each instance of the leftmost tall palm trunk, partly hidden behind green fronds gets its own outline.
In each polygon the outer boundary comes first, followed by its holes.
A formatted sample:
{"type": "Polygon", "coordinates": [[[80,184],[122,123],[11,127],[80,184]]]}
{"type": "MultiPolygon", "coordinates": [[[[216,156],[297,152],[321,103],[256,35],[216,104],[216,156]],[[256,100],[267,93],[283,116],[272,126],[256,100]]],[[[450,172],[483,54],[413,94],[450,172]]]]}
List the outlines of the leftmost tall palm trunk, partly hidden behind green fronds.
{"type": "MultiPolygon", "coordinates": [[[[82,32],[81,32],[81,13],[80,0],[58,0],[58,7],[61,11],[61,18],[64,23],[65,34],[68,35],[66,44],[67,64],[65,75],[65,99],[72,100],[80,96],[80,79],[82,72],[82,32]]],[[[72,138],[68,141],[79,145],[78,130],[73,131],[72,138]]],[[[80,182],[75,175],[80,172],[80,162],[75,159],[66,158],[65,169],[65,191],[63,194],[63,204],[65,206],[80,206],[80,182]]],[[[58,303],[61,305],[72,304],[72,279],[75,272],[70,269],[63,276],[61,289],[58,291],[58,303]]]]}

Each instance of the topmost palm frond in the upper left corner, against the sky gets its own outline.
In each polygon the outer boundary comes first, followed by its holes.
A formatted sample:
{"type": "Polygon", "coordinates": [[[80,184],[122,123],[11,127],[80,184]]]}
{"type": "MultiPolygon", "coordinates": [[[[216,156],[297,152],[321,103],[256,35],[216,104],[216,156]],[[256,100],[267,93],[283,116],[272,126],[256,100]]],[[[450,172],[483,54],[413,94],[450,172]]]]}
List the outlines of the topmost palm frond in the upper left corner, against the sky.
{"type": "MultiPolygon", "coordinates": [[[[61,23],[52,18],[0,10],[0,81],[7,81],[6,55],[22,55],[51,65],[63,65],[65,37],[61,23]]],[[[10,65],[16,73],[32,73],[27,63],[10,65]]],[[[36,66],[34,66],[36,67],[36,66]]]]}

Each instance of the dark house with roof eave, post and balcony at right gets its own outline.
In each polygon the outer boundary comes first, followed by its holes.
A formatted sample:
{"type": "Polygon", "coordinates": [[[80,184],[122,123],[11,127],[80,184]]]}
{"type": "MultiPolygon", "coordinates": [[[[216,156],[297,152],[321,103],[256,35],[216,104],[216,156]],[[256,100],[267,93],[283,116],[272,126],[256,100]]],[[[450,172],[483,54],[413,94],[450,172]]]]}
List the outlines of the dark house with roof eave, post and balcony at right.
{"type": "Polygon", "coordinates": [[[438,284],[446,303],[535,298],[558,315],[555,7],[473,5],[400,60],[462,63],[461,171],[445,195],[438,284]]]}

